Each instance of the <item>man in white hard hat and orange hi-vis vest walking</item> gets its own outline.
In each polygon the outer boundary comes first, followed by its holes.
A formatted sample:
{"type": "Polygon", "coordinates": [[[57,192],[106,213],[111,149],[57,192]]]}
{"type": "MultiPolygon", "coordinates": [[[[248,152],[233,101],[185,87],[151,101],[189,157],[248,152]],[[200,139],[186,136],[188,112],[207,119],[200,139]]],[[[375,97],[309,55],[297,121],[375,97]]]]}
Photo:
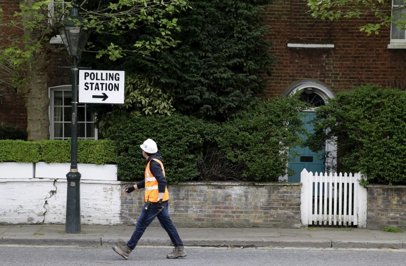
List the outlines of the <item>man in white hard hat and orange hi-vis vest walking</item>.
{"type": "Polygon", "coordinates": [[[169,193],[166,188],[165,169],[162,164],[162,156],[158,153],[158,147],[152,139],[147,139],[140,145],[143,150],[143,156],[147,159],[145,168],[145,179],[133,186],[126,187],[124,193],[127,195],[135,189],[145,188],[144,207],[140,217],[137,220],[136,229],[130,240],[125,243],[121,239],[119,244],[113,247],[113,250],[120,256],[128,259],[128,255],[137,246],[138,241],[144,234],[148,225],[158,218],[162,228],[171,238],[175,245],[172,253],[167,254],[167,258],[185,257],[186,252],[183,242],[179,237],[178,231],[173,224],[168,213],[169,193]]]}

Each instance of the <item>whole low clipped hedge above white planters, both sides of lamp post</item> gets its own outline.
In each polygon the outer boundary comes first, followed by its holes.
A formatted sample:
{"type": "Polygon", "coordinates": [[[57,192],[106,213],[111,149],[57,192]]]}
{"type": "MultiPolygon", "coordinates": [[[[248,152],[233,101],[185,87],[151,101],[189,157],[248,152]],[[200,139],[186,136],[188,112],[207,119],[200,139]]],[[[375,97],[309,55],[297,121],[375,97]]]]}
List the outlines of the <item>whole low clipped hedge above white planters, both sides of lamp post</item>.
{"type": "MultiPolygon", "coordinates": [[[[117,150],[111,140],[78,139],[78,163],[115,164],[117,150]]],[[[0,140],[0,162],[70,163],[70,140],[0,140]]]]}

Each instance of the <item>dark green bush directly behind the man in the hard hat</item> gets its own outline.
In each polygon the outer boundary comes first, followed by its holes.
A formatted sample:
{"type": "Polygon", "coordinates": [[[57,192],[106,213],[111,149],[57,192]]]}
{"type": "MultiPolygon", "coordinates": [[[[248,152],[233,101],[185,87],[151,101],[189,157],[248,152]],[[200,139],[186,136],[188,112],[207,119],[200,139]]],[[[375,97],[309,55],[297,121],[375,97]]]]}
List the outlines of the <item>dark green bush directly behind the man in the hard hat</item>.
{"type": "Polygon", "coordinates": [[[111,139],[118,148],[117,175],[121,180],[141,180],[146,165],[140,145],[156,141],[170,182],[191,180],[199,175],[197,162],[204,122],[174,113],[172,116],[123,116],[112,127],[111,139]]]}

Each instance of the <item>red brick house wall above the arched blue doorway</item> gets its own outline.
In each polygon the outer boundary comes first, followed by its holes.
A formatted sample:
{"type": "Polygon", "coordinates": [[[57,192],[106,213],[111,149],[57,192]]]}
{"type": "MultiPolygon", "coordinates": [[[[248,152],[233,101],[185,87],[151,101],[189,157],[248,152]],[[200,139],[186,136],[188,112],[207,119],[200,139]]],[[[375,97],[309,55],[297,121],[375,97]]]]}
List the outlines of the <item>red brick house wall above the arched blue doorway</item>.
{"type": "Polygon", "coordinates": [[[358,27],[376,23],[370,15],[361,19],[322,21],[313,19],[306,1],[277,0],[265,13],[271,29],[267,40],[277,56],[266,78],[266,94],[281,95],[298,80],[315,79],[335,92],[364,84],[380,84],[406,90],[406,50],[387,49],[390,28],[366,36],[358,27]],[[288,43],[334,44],[334,48],[288,48],[288,43]]]}

